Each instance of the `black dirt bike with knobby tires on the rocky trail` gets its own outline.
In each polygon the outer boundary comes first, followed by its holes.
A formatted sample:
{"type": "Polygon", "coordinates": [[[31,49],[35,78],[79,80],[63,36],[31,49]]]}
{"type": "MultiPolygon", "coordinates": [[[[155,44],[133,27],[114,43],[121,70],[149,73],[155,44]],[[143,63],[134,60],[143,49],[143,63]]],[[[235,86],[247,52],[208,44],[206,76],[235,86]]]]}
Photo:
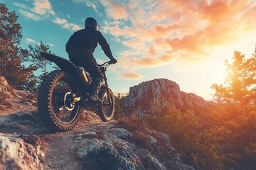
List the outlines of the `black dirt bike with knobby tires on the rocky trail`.
{"type": "Polygon", "coordinates": [[[72,130],[80,119],[80,108],[97,108],[102,121],[110,121],[114,115],[114,95],[107,85],[106,70],[112,64],[99,65],[104,81],[98,100],[89,99],[92,77],[82,67],[63,57],[41,52],[46,60],[55,62],[60,70],[50,72],[42,81],[38,91],[38,113],[41,121],[53,132],[72,130]]]}

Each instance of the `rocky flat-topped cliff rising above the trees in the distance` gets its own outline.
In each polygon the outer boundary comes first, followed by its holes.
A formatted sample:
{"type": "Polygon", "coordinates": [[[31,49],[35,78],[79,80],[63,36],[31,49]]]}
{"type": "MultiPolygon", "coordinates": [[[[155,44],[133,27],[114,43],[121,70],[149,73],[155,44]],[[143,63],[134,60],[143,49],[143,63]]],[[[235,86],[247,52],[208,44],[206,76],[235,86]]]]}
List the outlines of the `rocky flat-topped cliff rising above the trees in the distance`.
{"type": "Polygon", "coordinates": [[[124,105],[135,113],[154,113],[154,107],[164,105],[173,105],[181,111],[200,111],[209,104],[196,94],[181,91],[178,84],[169,79],[154,79],[132,86],[124,98],[124,105]]]}

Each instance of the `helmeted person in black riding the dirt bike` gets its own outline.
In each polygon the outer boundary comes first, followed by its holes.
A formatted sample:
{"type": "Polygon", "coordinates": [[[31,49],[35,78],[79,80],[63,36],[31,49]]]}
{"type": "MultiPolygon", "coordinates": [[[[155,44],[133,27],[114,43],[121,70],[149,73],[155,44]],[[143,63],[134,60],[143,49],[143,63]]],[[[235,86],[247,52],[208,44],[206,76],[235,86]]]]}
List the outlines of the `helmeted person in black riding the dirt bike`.
{"type": "Polygon", "coordinates": [[[88,17],[85,20],[85,29],[78,30],[71,35],[66,44],[66,52],[68,52],[70,61],[86,69],[92,76],[89,96],[92,101],[97,101],[97,92],[100,90],[100,84],[103,80],[100,67],[92,55],[97,47],[97,43],[99,42],[105,55],[110,58],[110,62],[113,64],[117,62],[112,56],[110,45],[99,30],[100,25],[95,18],[88,17]]]}

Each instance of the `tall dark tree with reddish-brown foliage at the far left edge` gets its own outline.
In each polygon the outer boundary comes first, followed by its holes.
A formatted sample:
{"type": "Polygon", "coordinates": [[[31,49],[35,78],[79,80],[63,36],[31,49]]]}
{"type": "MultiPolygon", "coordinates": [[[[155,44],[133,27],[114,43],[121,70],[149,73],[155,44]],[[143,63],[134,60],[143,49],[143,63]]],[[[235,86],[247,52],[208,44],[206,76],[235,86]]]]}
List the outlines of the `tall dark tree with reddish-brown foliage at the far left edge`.
{"type": "Polygon", "coordinates": [[[22,65],[23,57],[27,57],[28,52],[18,47],[22,29],[17,20],[15,11],[9,12],[5,4],[0,4],[0,74],[6,77],[12,87],[22,89],[28,79],[33,79],[36,68],[22,65]]]}

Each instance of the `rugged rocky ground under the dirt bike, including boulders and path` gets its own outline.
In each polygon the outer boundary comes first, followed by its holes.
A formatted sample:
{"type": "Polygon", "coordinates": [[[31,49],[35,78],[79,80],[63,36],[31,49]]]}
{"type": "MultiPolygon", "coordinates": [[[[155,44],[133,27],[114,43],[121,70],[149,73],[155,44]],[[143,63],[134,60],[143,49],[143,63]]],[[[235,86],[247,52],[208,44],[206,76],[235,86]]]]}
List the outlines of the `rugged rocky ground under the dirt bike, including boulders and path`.
{"type": "Polygon", "coordinates": [[[92,112],[83,111],[74,130],[51,133],[38,120],[33,94],[16,93],[1,103],[0,169],[193,169],[168,135],[103,123],[92,112]]]}

